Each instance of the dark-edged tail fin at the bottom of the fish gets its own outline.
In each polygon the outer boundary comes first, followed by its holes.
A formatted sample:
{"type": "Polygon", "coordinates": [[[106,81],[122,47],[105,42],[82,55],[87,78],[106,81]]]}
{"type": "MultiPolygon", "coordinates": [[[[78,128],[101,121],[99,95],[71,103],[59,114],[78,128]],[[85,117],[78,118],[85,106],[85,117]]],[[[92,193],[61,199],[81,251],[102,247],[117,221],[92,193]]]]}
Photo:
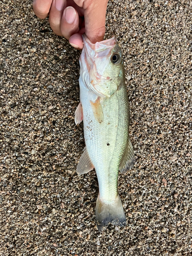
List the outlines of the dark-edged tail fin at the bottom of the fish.
{"type": "Polygon", "coordinates": [[[98,195],[95,214],[96,224],[99,231],[109,223],[117,226],[126,226],[126,218],[119,195],[111,204],[103,203],[98,195]]]}

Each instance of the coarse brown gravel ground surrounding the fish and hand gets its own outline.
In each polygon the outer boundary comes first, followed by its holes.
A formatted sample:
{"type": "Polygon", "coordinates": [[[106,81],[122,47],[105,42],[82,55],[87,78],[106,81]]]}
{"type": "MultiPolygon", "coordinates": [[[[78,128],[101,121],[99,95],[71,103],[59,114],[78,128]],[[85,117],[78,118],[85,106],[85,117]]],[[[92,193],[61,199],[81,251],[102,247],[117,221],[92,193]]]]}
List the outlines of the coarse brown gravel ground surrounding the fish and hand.
{"type": "Polygon", "coordinates": [[[0,255],[192,255],[191,2],[108,5],[136,164],[119,175],[127,226],[103,232],[96,174],[76,174],[80,52],[34,15],[32,1],[0,6],[0,255]]]}

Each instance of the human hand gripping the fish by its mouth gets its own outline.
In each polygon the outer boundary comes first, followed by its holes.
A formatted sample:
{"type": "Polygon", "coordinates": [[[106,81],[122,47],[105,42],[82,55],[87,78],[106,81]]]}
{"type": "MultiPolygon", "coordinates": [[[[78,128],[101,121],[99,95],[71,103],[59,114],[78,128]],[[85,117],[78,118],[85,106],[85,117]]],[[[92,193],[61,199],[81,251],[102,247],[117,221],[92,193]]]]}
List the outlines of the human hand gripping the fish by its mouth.
{"type": "Polygon", "coordinates": [[[83,33],[93,44],[103,40],[107,4],[108,0],[34,0],[33,10],[39,18],[49,15],[53,32],[82,49],[83,33]]]}

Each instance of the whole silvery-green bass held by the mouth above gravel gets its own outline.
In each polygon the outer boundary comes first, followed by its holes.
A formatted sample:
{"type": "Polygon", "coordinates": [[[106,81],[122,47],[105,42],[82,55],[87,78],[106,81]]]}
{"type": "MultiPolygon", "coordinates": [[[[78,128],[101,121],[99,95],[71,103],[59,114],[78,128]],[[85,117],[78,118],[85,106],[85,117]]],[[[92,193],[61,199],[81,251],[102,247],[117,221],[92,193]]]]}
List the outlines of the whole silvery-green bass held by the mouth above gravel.
{"type": "Polygon", "coordinates": [[[75,123],[83,120],[86,147],[77,165],[82,175],[95,168],[99,194],[95,215],[99,231],[109,223],[125,226],[118,193],[118,173],[135,163],[129,136],[130,109],[123,58],[116,36],[92,44],[83,34],[80,63],[80,102],[75,123]]]}

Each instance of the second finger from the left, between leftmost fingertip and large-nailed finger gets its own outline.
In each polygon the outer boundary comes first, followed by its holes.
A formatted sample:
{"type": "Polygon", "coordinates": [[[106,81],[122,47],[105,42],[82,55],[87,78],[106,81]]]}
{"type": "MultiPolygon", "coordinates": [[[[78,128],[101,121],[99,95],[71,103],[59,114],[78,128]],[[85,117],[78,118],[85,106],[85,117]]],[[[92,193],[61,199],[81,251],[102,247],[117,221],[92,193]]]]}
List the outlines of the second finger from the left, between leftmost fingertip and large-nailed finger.
{"type": "Polygon", "coordinates": [[[57,35],[62,35],[60,30],[61,18],[63,9],[65,9],[67,3],[66,0],[53,0],[50,13],[49,13],[49,23],[53,32],[57,35]]]}

